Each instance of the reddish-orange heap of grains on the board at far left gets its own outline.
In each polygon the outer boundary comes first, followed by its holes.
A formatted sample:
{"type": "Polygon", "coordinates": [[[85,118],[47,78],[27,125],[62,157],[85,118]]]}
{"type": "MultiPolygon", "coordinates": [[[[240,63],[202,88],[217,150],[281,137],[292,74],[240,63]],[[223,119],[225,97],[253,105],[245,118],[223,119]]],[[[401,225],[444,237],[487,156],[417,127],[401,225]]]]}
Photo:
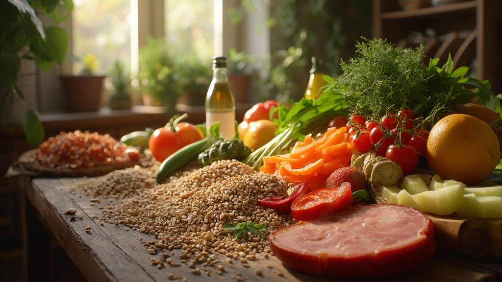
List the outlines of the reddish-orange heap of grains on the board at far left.
{"type": "Polygon", "coordinates": [[[140,152],[109,134],[76,130],[49,137],[39,145],[34,158],[43,167],[80,169],[138,161],[140,152]]]}

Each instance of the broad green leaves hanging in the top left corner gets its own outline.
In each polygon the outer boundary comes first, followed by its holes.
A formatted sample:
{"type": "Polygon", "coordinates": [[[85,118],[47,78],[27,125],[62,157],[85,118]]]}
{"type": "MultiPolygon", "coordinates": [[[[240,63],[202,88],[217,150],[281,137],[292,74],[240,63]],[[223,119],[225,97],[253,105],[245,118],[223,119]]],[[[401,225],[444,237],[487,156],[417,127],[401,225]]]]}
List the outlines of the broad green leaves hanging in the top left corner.
{"type": "Polygon", "coordinates": [[[73,10],[71,0],[8,0],[0,1],[0,89],[2,116],[5,101],[18,97],[26,107],[23,130],[28,143],[36,147],[45,131],[36,109],[30,109],[25,96],[16,86],[22,60],[35,61],[37,68],[48,70],[54,63],[61,65],[68,46],[66,32],[57,24],[66,20],[73,10]],[[56,25],[44,26],[38,15],[48,16],[56,25]],[[11,97],[9,97],[11,96],[11,97]]]}

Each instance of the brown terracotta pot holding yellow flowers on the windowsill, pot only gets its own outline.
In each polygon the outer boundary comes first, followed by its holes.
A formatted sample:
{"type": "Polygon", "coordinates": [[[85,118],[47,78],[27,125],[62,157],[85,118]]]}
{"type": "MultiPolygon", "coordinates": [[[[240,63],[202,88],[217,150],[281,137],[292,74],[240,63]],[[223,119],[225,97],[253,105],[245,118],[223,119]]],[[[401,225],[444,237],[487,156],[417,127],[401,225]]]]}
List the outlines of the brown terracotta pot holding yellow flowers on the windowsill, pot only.
{"type": "Polygon", "coordinates": [[[62,76],[68,111],[98,111],[105,76],[62,76]]]}

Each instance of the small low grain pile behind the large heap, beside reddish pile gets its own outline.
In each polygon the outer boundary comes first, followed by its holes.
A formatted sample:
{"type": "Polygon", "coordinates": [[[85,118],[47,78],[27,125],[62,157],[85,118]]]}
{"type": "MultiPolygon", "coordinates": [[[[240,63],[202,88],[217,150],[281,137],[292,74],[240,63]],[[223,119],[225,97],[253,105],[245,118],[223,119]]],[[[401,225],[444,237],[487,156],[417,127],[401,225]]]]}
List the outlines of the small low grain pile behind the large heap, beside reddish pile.
{"type": "MultiPolygon", "coordinates": [[[[157,167],[158,168],[158,167],[157,167]]],[[[142,168],[136,166],[123,170],[115,170],[104,176],[86,178],[70,187],[70,192],[80,190],[89,197],[106,197],[126,199],[138,195],[145,189],[157,185],[154,167],[142,168]]]]}

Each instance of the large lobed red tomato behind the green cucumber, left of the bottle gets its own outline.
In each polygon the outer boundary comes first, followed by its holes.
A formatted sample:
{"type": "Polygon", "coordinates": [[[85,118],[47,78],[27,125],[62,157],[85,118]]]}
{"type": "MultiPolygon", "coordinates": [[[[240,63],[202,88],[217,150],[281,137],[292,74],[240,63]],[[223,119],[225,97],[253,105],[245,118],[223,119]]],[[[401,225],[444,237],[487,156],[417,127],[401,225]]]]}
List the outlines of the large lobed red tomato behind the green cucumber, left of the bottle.
{"type": "Polygon", "coordinates": [[[197,126],[178,122],[174,130],[169,126],[156,129],[148,140],[148,148],[157,161],[163,162],[174,152],[202,138],[204,135],[197,126]]]}

